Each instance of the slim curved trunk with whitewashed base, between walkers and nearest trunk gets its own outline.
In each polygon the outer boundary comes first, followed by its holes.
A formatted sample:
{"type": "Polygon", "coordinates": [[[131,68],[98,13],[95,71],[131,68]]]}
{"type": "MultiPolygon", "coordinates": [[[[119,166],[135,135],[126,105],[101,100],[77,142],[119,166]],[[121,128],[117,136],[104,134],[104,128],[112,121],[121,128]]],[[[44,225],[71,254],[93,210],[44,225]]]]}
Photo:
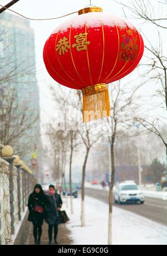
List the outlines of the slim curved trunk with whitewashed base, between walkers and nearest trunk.
{"type": "Polygon", "coordinates": [[[82,167],[82,193],[81,193],[81,226],[85,227],[85,170],[90,148],[86,148],[85,160],[82,167]]]}

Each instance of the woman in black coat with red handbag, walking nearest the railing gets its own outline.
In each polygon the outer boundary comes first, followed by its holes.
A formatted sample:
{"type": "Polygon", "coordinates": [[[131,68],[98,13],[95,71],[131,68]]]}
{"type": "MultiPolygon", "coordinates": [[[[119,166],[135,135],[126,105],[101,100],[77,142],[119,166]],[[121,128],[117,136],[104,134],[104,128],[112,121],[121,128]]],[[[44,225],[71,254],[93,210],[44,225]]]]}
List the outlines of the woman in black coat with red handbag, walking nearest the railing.
{"type": "Polygon", "coordinates": [[[28,221],[33,223],[33,236],[35,244],[41,243],[42,224],[45,218],[45,205],[47,197],[40,184],[36,184],[33,192],[28,198],[28,221]]]}

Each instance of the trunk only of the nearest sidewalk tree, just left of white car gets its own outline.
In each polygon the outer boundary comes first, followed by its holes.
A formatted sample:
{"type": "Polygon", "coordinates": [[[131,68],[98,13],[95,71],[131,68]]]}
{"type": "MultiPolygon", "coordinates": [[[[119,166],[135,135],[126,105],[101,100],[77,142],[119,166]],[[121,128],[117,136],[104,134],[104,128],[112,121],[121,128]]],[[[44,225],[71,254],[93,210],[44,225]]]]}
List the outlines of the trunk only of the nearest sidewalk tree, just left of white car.
{"type": "Polygon", "coordinates": [[[109,191],[109,234],[108,234],[108,244],[112,244],[112,201],[113,201],[113,187],[114,187],[114,177],[115,177],[115,163],[114,163],[114,141],[115,134],[112,135],[111,139],[111,183],[109,191]]]}

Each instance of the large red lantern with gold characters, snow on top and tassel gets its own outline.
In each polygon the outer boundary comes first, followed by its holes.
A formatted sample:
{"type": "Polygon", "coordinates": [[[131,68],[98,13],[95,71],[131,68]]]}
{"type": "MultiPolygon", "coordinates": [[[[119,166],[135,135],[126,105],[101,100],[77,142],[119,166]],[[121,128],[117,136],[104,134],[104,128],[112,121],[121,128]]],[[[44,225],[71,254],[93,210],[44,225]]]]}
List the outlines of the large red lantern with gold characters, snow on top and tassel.
{"type": "Polygon", "coordinates": [[[52,33],[43,59],[58,83],[82,90],[87,122],[110,115],[106,84],[131,73],[143,51],[143,39],[131,23],[89,7],[52,33]]]}

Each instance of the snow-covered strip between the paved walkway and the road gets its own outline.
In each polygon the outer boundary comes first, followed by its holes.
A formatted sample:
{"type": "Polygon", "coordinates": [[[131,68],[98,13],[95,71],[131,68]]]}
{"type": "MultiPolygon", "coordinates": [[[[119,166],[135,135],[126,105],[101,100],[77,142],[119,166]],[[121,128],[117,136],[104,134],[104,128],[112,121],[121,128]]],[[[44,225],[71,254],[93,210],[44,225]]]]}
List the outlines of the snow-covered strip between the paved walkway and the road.
{"type": "MultiPolygon", "coordinates": [[[[107,223],[109,206],[92,197],[85,198],[86,227],[81,227],[81,198],[75,198],[74,215],[70,214],[63,199],[63,209],[70,221],[66,224],[71,230],[75,245],[107,245],[107,223]]],[[[141,206],[142,207],[142,206],[141,206]]],[[[113,207],[112,238],[114,245],[167,245],[167,227],[129,211],[113,207]]]]}

